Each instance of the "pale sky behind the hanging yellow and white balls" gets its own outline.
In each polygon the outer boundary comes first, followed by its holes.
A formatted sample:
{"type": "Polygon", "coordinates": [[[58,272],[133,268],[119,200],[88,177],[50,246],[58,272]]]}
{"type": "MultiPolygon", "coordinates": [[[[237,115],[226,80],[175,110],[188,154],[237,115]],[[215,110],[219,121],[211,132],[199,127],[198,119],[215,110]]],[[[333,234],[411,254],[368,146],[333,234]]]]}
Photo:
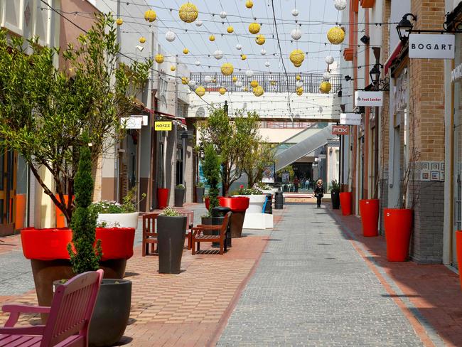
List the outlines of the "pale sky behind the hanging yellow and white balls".
{"type": "MultiPolygon", "coordinates": [[[[235,71],[283,73],[282,56],[288,73],[323,73],[326,70],[326,55],[333,55],[338,60],[340,46],[331,45],[326,38],[328,29],[341,18],[333,6],[333,0],[273,1],[282,55],[277,44],[272,0],[254,0],[252,9],[247,9],[245,0],[192,0],[190,2],[200,12],[198,21],[203,22],[202,26],[184,23],[178,17],[178,9],[186,0],[124,2],[134,4],[131,15],[135,17],[142,17],[148,5],[156,11],[159,43],[163,50],[178,55],[181,62],[186,63],[193,72],[218,72],[222,63],[232,63],[235,71]],[[299,10],[299,16],[291,14],[293,9],[299,10]],[[220,17],[222,11],[225,11],[226,18],[220,17]],[[249,23],[254,22],[254,18],[257,18],[257,23],[262,23],[260,33],[266,38],[263,46],[257,45],[255,35],[248,31],[249,23]],[[234,33],[227,33],[228,26],[234,28],[234,33]],[[290,36],[296,27],[302,33],[299,41],[292,40],[290,36]],[[176,33],[175,41],[166,40],[167,31],[176,33]],[[209,41],[210,34],[215,36],[214,42],[209,41]],[[237,50],[237,44],[242,45],[242,50],[237,50]],[[184,55],[183,48],[188,48],[190,53],[184,55]],[[266,55],[261,54],[262,48],[267,51],[266,55]],[[301,68],[295,68],[289,60],[289,53],[296,48],[308,52],[301,68]],[[222,51],[220,60],[213,55],[216,50],[222,51]],[[241,60],[241,54],[247,55],[247,60],[241,60]],[[265,66],[267,62],[269,67],[265,66]]],[[[145,34],[149,35],[147,28],[145,34]]]]}

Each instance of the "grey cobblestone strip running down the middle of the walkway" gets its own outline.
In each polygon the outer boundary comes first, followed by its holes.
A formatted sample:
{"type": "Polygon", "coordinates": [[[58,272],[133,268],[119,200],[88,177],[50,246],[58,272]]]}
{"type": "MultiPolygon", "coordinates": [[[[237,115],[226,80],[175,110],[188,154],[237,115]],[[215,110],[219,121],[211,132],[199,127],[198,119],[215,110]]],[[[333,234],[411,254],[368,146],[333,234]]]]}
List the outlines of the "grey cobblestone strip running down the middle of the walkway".
{"type": "Polygon", "coordinates": [[[217,346],[422,346],[333,218],[291,205],[217,346]]]}

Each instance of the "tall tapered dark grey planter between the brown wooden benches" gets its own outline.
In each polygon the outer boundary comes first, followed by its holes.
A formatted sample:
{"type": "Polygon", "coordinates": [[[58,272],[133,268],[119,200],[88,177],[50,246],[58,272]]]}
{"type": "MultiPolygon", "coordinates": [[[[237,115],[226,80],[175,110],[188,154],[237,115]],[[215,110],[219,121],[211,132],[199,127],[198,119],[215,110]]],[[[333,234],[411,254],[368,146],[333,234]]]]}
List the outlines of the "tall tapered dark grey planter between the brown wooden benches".
{"type": "Polygon", "coordinates": [[[161,274],[179,274],[185,245],[186,216],[159,215],[157,217],[157,230],[159,272],[161,274]]]}

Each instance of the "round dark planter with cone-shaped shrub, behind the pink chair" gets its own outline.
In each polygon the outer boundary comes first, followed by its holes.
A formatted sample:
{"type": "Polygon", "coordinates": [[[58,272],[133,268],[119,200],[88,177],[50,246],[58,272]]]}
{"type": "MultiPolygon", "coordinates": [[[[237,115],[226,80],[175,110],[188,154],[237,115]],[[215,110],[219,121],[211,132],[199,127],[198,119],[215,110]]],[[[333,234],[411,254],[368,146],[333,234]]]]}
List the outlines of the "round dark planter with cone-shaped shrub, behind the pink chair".
{"type": "MultiPolygon", "coordinates": [[[[56,286],[60,281],[53,282],[56,286]]],[[[103,279],[90,322],[89,346],[113,346],[124,335],[130,316],[131,282],[103,279]]]]}

